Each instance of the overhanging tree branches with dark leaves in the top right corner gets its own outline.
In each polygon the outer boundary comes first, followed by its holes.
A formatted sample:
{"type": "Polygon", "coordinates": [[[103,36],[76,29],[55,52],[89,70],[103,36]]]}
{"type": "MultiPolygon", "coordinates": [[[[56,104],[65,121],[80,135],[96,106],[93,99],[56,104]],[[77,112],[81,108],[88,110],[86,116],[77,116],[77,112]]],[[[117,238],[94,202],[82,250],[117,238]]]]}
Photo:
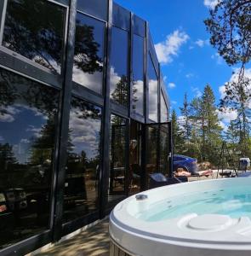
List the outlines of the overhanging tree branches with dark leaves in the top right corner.
{"type": "Polygon", "coordinates": [[[221,0],[204,20],[210,43],[229,65],[244,66],[251,58],[251,1],[221,0]]]}

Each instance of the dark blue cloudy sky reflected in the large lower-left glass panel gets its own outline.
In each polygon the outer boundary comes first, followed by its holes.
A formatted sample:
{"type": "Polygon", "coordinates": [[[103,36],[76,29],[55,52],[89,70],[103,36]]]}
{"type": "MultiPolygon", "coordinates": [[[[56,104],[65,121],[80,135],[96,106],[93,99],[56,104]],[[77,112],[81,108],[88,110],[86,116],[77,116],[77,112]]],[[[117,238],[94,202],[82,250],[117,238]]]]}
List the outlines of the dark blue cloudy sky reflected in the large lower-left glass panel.
{"type": "Polygon", "coordinates": [[[40,131],[47,123],[46,116],[36,108],[20,104],[6,108],[6,112],[0,115],[0,143],[12,145],[15,158],[25,164],[31,155],[32,141],[41,136],[40,131]]]}

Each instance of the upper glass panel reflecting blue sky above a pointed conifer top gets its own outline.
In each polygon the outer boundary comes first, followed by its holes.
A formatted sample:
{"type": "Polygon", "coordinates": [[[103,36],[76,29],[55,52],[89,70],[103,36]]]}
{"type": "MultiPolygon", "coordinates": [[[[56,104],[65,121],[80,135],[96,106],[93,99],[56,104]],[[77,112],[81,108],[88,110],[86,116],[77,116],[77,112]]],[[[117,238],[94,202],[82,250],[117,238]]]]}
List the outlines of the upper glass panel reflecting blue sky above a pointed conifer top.
{"type": "Polygon", "coordinates": [[[128,32],[112,27],[110,96],[114,102],[128,106],[128,32]]]}

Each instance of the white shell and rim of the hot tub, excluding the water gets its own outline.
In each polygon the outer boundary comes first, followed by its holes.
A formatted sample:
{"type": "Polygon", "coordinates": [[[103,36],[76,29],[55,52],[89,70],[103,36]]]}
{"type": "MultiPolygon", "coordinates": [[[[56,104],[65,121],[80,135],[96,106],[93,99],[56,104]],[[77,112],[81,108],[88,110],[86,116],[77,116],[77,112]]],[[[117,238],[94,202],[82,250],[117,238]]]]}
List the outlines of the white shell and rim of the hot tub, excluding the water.
{"type": "MultiPolygon", "coordinates": [[[[168,256],[250,256],[251,220],[246,216],[196,212],[178,218],[145,221],[137,218],[153,203],[203,193],[212,189],[251,186],[251,177],[222,178],[192,183],[180,183],[133,195],[120,202],[111,212],[109,232],[111,242],[129,255],[168,256]]],[[[251,201],[251,198],[250,198],[251,201]]]]}

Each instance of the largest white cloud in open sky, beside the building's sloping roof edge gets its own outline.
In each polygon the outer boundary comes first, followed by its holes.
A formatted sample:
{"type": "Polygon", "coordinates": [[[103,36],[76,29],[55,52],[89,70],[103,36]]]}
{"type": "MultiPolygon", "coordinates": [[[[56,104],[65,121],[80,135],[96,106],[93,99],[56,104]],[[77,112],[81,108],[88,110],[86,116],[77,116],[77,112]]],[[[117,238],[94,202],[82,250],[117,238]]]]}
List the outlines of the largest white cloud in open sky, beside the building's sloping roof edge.
{"type": "Polygon", "coordinates": [[[178,55],[182,44],[185,44],[189,36],[180,30],[169,34],[165,41],[155,44],[158,61],[167,64],[173,61],[173,56],[178,55]]]}

